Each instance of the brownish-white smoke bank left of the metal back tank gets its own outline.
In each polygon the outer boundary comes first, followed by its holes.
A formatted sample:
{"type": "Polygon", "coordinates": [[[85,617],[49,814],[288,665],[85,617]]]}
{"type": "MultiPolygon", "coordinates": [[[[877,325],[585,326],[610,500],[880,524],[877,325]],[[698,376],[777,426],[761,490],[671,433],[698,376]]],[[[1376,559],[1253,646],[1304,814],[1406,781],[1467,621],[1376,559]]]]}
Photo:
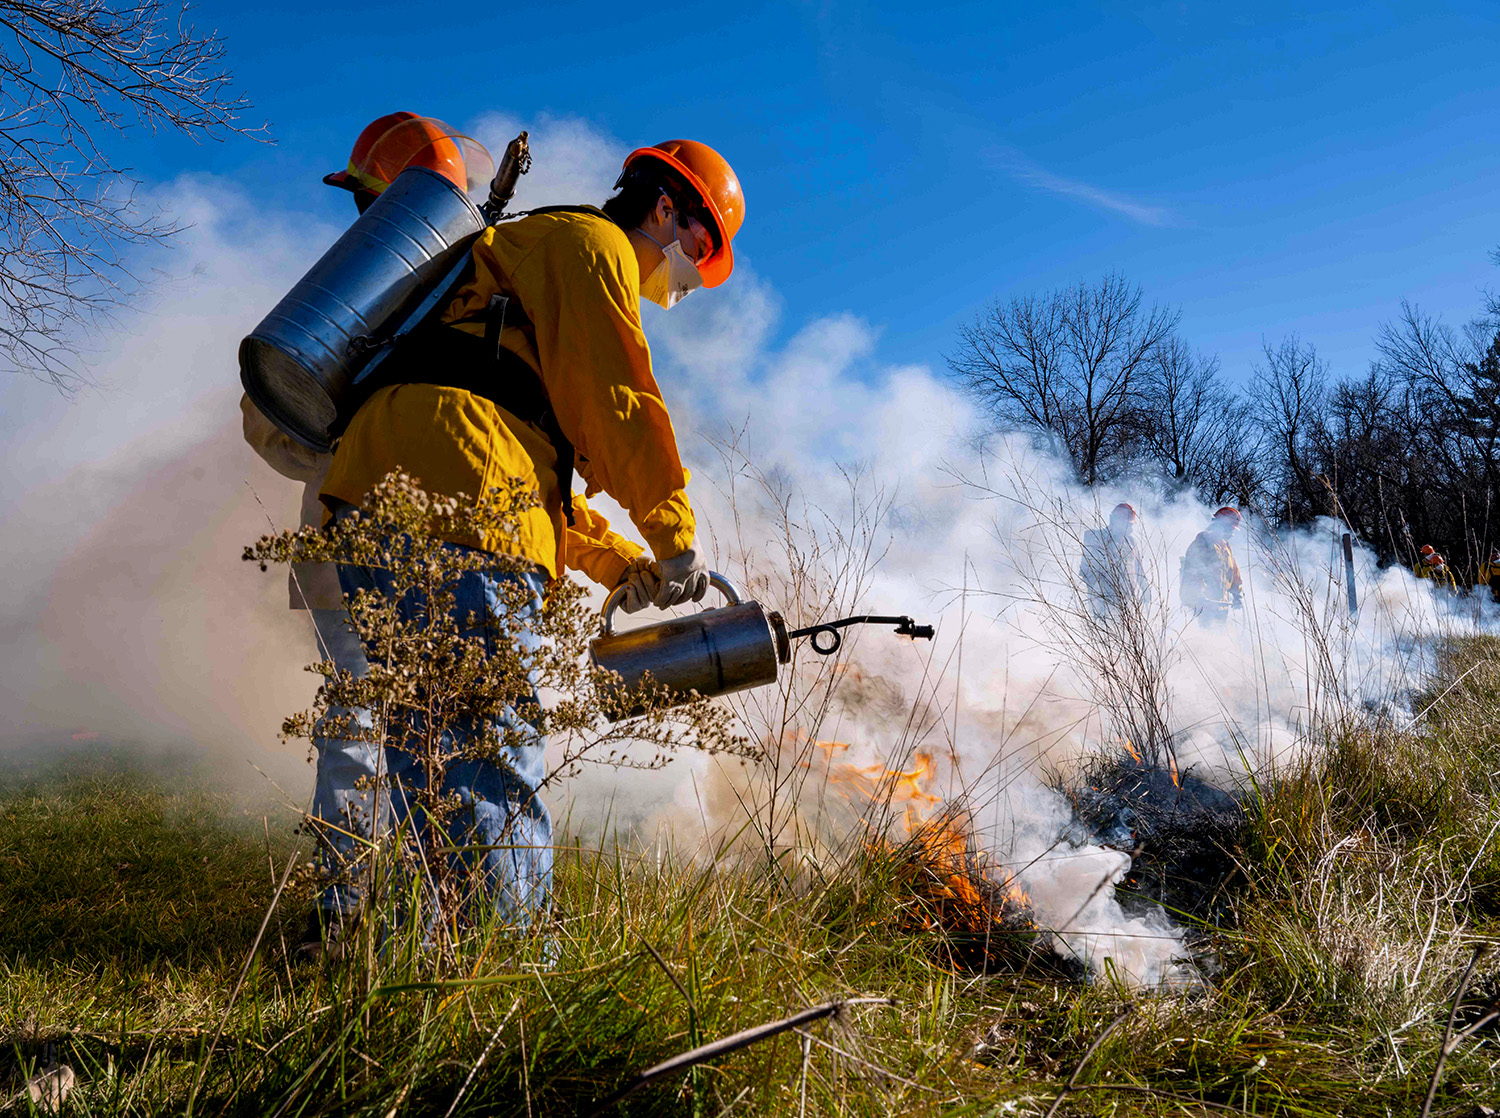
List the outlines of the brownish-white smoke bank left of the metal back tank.
{"type": "Polygon", "coordinates": [[[144,261],[176,276],[152,305],[92,339],[98,386],[0,384],[0,747],[192,749],[300,800],[304,750],[276,735],[315,689],[310,632],[238,558],[296,525],[297,491],[240,438],[236,350],[338,230],[218,180],[159,194],[192,228],[144,261]]]}

